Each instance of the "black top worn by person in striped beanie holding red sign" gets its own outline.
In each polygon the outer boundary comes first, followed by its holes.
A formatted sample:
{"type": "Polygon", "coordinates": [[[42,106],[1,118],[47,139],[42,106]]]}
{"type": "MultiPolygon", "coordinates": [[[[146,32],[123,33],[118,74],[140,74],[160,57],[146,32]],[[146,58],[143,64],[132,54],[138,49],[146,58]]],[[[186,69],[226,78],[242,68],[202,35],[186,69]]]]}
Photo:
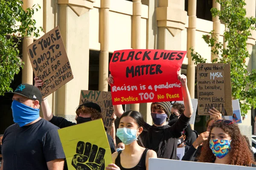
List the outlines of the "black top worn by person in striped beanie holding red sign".
{"type": "Polygon", "coordinates": [[[145,148],[154,150],[157,158],[177,159],[177,138],[182,135],[183,130],[189,125],[190,118],[184,114],[175,122],[174,125],[164,125],[161,127],[144,123],[141,138],[145,148]]]}

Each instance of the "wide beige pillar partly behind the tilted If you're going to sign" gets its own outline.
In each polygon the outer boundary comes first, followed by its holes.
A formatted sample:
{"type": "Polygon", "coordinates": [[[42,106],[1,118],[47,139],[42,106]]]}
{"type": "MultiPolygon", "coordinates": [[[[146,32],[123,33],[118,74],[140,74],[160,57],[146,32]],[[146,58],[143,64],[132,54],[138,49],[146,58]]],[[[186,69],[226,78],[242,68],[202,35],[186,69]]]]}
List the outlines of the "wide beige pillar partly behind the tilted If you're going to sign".
{"type": "Polygon", "coordinates": [[[93,0],[58,0],[58,26],[67,51],[74,79],[55,92],[55,113],[75,121],[81,89],[89,82],[89,23],[93,0]],[[76,4],[75,4],[76,3],[76,4]]]}

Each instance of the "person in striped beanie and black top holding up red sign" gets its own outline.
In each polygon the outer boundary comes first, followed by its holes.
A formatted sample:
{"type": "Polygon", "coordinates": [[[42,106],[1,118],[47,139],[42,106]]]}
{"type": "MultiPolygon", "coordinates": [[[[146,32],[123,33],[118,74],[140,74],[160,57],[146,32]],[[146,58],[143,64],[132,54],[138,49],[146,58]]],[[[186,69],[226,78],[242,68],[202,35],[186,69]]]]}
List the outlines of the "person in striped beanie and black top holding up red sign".
{"type": "MultiPolygon", "coordinates": [[[[185,111],[180,115],[177,122],[172,125],[166,125],[166,120],[171,116],[170,102],[153,102],[151,105],[151,117],[154,125],[148,125],[144,122],[143,127],[146,129],[141,133],[143,144],[146,148],[154,150],[158,158],[176,159],[177,156],[177,139],[182,135],[183,130],[189,125],[190,117],[193,113],[191,97],[187,87],[185,75],[177,75],[181,82],[183,101],[185,111]]],[[[108,83],[113,84],[114,78],[109,76],[108,83]]],[[[113,105],[117,117],[124,113],[122,105],[113,105]]]]}

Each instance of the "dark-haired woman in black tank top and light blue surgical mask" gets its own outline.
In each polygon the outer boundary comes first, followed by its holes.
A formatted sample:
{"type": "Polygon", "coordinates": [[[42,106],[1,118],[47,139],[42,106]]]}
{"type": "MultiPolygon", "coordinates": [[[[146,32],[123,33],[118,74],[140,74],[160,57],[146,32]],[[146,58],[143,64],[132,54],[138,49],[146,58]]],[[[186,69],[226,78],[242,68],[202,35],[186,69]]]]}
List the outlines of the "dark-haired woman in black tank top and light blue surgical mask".
{"type": "Polygon", "coordinates": [[[140,139],[143,124],[143,116],[137,111],[122,114],[116,136],[125,144],[125,149],[112,154],[113,164],[106,170],[148,170],[148,159],[157,158],[157,153],[145,149],[140,139]]]}

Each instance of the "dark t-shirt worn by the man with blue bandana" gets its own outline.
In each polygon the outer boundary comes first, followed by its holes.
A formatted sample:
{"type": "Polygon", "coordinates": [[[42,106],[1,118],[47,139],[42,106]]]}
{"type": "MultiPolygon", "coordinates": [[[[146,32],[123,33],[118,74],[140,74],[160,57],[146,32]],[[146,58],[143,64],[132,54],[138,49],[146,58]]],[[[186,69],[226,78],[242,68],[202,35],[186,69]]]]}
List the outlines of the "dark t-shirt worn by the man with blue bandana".
{"type": "Polygon", "coordinates": [[[44,119],[9,126],[3,135],[4,170],[48,170],[47,162],[65,159],[58,127],[44,119]]]}

